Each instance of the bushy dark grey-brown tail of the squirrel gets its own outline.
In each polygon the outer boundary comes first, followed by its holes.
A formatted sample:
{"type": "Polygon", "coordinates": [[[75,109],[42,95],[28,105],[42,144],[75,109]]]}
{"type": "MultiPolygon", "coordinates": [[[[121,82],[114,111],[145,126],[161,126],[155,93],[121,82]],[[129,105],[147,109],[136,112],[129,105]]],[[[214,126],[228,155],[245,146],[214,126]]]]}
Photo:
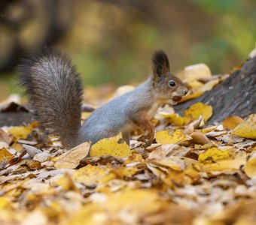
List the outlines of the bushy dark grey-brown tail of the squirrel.
{"type": "Polygon", "coordinates": [[[56,49],[41,49],[17,67],[20,84],[26,87],[32,110],[44,127],[68,148],[81,138],[83,88],[75,66],[56,49]]]}

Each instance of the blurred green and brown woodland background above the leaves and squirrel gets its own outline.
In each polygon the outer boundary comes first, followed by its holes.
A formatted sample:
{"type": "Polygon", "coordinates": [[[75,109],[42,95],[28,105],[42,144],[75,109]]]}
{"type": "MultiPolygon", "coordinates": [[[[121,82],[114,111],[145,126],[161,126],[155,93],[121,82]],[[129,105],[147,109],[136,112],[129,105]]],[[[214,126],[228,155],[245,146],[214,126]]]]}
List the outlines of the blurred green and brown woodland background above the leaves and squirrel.
{"type": "Polygon", "coordinates": [[[0,1],[0,101],[20,58],[41,46],[68,53],[85,86],[138,83],[163,49],[173,73],[204,62],[224,74],[256,41],[255,0],[0,1]]]}

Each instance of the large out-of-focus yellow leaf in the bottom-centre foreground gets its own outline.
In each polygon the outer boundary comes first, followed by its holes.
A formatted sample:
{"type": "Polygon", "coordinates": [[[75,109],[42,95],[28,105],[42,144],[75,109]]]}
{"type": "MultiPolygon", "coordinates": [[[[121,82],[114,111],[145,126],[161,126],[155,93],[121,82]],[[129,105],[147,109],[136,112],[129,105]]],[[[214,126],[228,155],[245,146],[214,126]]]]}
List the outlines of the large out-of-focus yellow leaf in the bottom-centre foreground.
{"type": "Polygon", "coordinates": [[[66,225],[138,224],[142,218],[156,215],[166,207],[166,201],[155,190],[123,190],[101,194],[100,202],[85,204],[66,225]]]}

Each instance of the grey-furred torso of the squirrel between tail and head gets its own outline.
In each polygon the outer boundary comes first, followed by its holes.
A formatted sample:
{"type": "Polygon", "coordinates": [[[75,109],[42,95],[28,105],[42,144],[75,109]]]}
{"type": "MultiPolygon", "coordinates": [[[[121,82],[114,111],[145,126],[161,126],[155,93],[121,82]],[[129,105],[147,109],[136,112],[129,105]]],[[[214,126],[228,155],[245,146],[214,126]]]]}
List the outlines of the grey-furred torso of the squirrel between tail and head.
{"type": "Polygon", "coordinates": [[[130,127],[135,126],[133,118],[138,112],[151,107],[155,101],[151,90],[151,80],[147,80],[136,89],[97,108],[81,127],[84,140],[94,143],[120,132],[125,133],[126,130],[131,131],[130,127]]]}

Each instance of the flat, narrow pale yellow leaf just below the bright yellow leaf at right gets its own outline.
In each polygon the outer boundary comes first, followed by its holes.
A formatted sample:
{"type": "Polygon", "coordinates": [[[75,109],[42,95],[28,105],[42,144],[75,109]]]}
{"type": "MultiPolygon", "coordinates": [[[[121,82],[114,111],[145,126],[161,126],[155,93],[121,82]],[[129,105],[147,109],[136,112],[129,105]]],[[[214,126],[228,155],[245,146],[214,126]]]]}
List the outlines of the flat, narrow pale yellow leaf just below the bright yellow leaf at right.
{"type": "Polygon", "coordinates": [[[212,172],[218,170],[236,170],[239,169],[240,166],[245,164],[245,160],[243,159],[235,159],[235,160],[222,160],[218,163],[211,163],[203,166],[203,170],[205,172],[212,172]]]}

